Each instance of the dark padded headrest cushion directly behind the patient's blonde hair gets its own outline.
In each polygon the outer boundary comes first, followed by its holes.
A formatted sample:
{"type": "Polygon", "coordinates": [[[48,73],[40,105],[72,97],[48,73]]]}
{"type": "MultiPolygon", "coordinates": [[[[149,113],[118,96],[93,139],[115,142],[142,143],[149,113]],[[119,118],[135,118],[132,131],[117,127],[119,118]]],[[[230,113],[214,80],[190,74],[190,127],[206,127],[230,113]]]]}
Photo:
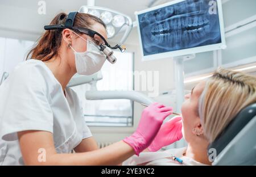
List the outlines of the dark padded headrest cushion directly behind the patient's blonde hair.
{"type": "MultiPolygon", "coordinates": [[[[218,135],[216,140],[208,146],[208,152],[210,148],[216,149],[216,155],[220,154],[221,151],[233,140],[234,137],[245,127],[247,123],[253,117],[256,116],[256,103],[250,104],[243,108],[229,125],[218,135]]],[[[209,155],[209,154],[208,154],[209,155]]]]}

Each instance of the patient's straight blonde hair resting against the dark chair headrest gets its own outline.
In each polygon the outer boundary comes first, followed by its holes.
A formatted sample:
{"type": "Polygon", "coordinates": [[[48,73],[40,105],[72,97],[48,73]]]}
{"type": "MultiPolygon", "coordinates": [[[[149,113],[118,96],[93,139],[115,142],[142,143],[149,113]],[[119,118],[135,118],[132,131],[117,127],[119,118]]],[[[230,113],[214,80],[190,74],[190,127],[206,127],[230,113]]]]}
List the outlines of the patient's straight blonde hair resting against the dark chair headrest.
{"type": "Polygon", "coordinates": [[[213,142],[241,109],[256,102],[256,77],[218,68],[199,99],[204,135],[213,142]]]}

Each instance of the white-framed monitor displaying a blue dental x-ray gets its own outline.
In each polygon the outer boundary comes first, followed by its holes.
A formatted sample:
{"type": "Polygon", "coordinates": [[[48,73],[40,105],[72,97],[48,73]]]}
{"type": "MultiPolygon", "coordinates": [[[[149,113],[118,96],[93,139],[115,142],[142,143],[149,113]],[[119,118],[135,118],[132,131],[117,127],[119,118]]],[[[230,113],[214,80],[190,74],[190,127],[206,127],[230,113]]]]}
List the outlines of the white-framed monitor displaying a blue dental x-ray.
{"type": "Polygon", "coordinates": [[[176,0],[135,15],[143,60],[226,47],[221,0],[176,0]]]}

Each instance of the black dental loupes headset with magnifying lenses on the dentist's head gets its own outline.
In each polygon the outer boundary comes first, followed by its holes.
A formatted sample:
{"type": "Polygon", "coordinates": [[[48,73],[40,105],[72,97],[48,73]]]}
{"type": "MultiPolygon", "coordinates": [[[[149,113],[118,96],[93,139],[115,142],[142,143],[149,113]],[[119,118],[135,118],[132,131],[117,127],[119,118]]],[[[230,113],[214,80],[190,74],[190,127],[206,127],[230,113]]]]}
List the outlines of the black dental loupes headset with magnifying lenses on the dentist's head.
{"type": "Polygon", "coordinates": [[[74,27],[74,21],[75,21],[75,17],[76,17],[77,12],[70,12],[68,14],[67,20],[65,22],[65,24],[56,24],[56,25],[47,25],[44,26],[45,30],[51,30],[51,29],[72,29],[74,31],[79,31],[81,33],[84,33],[85,35],[88,35],[92,38],[94,38],[95,35],[99,36],[105,44],[100,44],[100,45],[96,45],[97,48],[99,50],[101,50],[105,55],[106,55],[106,59],[111,63],[114,64],[117,61],[117,58],[115,58],[113,56],[113,51],[112,49],[119,49],[121,52],[125,52],[126,48],[125,47],[121,47],[121,45],[116,44],[114,47],[112,47],[107,41],[106,39],[98,32],[93,31],[92,29],[88,29],[88,28],[83,28],[83,27],[74,27]]]}

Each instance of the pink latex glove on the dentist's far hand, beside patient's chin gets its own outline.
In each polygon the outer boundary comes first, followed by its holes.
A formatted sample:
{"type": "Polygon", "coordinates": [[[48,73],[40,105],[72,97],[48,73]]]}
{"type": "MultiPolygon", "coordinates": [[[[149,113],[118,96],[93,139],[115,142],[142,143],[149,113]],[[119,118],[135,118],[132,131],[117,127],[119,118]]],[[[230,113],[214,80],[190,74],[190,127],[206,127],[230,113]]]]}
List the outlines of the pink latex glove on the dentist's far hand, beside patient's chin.
{"type": "Polygon", "coordinates": [[[155,139],[152,141],[148,150],[158,151],[164,146],[168,146],[182,138],[182,117],[176,116],[164,123],[155,139]]]}

